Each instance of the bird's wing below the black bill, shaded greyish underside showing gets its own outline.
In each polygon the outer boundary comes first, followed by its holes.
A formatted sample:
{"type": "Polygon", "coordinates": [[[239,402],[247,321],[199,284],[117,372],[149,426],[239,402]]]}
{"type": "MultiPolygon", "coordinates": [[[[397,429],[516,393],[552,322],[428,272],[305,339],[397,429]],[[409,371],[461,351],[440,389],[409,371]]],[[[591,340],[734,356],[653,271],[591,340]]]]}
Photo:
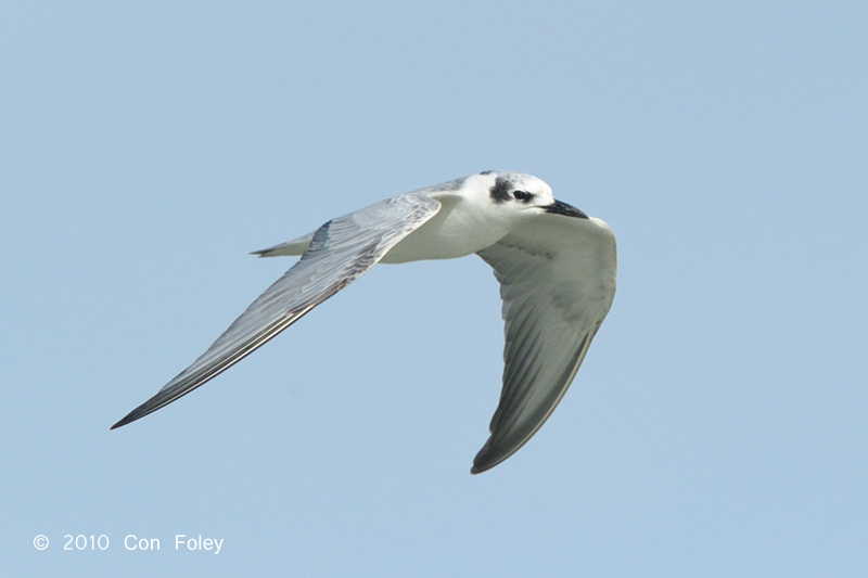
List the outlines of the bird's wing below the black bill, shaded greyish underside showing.
{"type": "Polygon", "coordinates": [[[478,255],[500,282],[503,388],[477,474],[519,450],[554,411],[615,295],[615,237],[599,219],[542,214],[478,255]]]}

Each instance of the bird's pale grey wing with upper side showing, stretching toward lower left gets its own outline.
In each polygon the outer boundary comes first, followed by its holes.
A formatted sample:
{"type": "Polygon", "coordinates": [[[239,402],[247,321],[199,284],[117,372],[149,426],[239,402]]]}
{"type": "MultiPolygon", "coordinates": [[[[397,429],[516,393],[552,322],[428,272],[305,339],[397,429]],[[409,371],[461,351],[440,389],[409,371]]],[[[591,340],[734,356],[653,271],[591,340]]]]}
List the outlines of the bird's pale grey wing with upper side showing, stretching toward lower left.
{"type": "Polygon", "coordinates": [[[189,368],[112,426],[120,427],[171,403],[226,371],[371,268],[441,208],[408,193],[332,219],[283,277],[239,317],[189,368]]]}

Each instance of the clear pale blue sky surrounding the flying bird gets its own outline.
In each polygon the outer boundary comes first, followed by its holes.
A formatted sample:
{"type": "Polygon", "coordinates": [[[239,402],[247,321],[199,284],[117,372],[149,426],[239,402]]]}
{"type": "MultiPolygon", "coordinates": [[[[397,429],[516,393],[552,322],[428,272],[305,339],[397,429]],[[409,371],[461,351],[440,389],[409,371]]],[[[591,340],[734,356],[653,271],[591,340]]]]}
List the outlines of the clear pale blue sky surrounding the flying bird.
{"type": "Polygon", "coordinates": [[[865,7],[3,2],[3,573],[863,574],[865,7]],[[475,257],[375,267],[110,433],[292,265],[247,252],[492,168],[620,251],[510,460],[469,474],[502,348],[475,257]]]}

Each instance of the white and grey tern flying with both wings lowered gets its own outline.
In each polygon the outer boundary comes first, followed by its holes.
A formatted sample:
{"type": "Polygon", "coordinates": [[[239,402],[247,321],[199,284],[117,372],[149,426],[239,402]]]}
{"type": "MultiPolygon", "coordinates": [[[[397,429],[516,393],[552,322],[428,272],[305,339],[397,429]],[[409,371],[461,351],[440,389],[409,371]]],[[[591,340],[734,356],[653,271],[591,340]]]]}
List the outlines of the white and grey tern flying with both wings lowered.
{"type": "Polygon", "coordinates": [[[328,221],[260,257],[302,258],[193,363],[112,429],[189,394],[295,323],[376,262],[475,253],[494,268],[506,322],[503,385],[477,474],[515,453],[575,377],[615,295],[615,236],[522,172],[484,171],[328,221]]]}

